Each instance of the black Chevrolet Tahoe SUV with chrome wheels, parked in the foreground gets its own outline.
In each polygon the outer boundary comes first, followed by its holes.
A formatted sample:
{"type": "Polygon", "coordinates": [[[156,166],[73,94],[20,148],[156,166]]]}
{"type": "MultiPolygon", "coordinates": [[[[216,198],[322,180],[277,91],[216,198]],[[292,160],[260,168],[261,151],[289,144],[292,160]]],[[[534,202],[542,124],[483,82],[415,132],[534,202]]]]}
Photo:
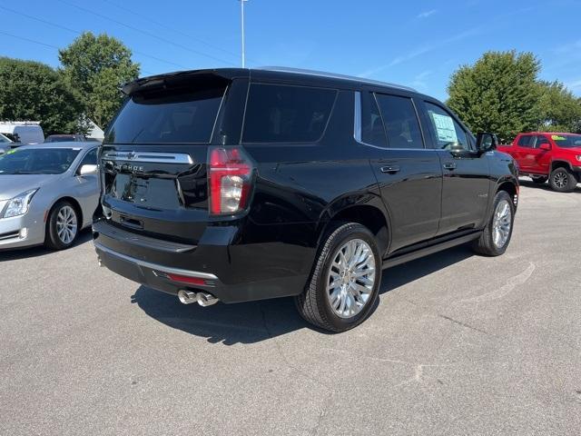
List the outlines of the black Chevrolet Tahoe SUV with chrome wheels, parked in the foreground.
{"type": "Polygon", "coordinates": [[[341,332],[381,270],[472,242],[505,252],[517,169],[407,87],[289,69],[162,74],[127,99],[100,153],[100,263],[202,306],[293,296],[341,332]]]}

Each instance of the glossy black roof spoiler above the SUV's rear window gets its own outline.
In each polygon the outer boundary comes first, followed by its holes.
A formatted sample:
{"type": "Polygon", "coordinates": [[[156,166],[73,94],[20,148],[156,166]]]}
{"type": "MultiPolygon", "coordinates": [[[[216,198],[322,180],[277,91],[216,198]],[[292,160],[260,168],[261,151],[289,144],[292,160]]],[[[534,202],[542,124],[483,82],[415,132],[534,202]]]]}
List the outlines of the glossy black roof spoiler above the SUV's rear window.
{"type": "Polygon", "coordinates": [[[150,89],[180,86],[187,84],[192,80],[208,82],[223,81],[224,83],[228,83],[231,82],[232,79],[248,78],[249,76],[249,70],[242,68],[178,71],[175,73],[158,74],[139,78],[133,82],[129,82],[128,84],[123,84],[121,92],[125,95],[133,95],[150,89]]]}

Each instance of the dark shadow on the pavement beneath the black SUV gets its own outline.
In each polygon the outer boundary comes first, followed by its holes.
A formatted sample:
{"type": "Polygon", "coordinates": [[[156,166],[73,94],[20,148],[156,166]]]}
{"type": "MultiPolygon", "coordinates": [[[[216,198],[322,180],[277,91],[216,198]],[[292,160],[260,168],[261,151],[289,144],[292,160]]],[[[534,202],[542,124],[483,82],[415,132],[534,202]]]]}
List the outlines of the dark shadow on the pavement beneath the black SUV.
{"type": "MultiPolygon", "coordinates": [[[[385,294],[472,255],[469,247],[464,245],[390,268],[383,272],[379,293],[385,294]]],[[[255,343],[304,328],[332,334],[305,322],[296,311],[292,298],[236,304],[219,302],[201,307],[196,303],[184,305],[173,295],[140,286],[132,295],[132,302],[153,319],[182,332],[207,338],[211,343],[255,343]]],[[[373,312],[378,304],[379,299],[373,312]]]]}

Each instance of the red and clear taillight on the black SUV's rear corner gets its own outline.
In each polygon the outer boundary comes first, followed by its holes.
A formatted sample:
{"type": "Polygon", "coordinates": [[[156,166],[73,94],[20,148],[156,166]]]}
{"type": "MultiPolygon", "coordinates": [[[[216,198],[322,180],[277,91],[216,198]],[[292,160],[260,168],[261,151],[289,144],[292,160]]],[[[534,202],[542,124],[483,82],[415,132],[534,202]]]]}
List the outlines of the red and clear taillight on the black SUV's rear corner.
{"type": "Polygon", "coordinates": [[[251,195],[253,165],[241,148],[210,147],[208,189],[210,213],[230,214],[243,210],[251,195]]]}

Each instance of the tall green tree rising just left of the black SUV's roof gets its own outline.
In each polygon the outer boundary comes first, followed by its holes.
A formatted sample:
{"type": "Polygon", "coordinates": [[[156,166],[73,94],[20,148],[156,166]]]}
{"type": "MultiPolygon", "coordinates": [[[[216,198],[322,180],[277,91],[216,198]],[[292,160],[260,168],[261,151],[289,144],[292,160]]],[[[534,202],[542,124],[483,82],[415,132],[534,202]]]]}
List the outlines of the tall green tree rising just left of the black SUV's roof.
{"type": "Polygon", "coordinates": [[[85,32],[59,50],[65,79],[78,90],[84,113],[103,129],[123,101],[122,84],[139,75],[131,50],[112,36],[85,32]]]}

